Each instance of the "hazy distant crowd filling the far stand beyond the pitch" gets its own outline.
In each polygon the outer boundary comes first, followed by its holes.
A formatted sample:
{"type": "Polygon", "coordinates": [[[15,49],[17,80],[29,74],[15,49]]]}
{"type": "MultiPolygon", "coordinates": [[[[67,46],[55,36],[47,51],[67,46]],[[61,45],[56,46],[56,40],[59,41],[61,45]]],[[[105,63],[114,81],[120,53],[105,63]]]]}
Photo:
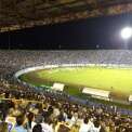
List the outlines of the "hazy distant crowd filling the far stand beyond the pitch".
{"type": "Polygon", "coordinates": [[[54,64],[126,64],[132,65],[129,50],[80,51],[0,51],[0,78],[40,65],[54,64]]]}

